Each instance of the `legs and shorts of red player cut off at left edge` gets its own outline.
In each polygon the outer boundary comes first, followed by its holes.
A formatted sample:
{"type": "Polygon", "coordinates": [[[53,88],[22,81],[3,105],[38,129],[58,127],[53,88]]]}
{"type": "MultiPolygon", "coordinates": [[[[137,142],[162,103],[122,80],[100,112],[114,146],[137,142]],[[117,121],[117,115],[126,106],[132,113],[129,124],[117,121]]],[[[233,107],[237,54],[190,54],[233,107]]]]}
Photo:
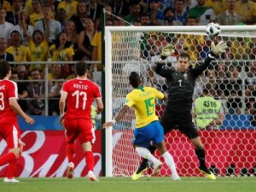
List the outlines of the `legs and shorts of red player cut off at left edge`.
{"type": "Polygon", "coordinates": [[[3,154],[3,156],[0,157],[0,166],[9,163],[7,174],[6,177],[4,177],[3,182],[16,183],[19,181],[15,179],[14,172],[22,151],[22,144],[20,142],[20,128],[18,124],[15,123],[3,125],[3,130],[4,133],[1,135],[5,139],[8,148],[10,148],[8,154],[3,154]]]}

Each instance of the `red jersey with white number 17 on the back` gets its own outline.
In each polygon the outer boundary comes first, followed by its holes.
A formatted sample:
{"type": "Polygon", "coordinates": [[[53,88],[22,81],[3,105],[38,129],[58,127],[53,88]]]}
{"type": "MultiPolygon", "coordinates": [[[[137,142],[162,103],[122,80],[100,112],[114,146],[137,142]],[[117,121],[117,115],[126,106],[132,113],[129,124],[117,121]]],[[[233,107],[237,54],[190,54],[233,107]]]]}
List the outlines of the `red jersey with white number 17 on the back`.
{"type": "Polygon", "coordinates": [[[72,79],[65,82],[61,92],[67,92],[65,119],[91,119],[94,99],[102,98],[99,86],[88,79],[72,79]]]}

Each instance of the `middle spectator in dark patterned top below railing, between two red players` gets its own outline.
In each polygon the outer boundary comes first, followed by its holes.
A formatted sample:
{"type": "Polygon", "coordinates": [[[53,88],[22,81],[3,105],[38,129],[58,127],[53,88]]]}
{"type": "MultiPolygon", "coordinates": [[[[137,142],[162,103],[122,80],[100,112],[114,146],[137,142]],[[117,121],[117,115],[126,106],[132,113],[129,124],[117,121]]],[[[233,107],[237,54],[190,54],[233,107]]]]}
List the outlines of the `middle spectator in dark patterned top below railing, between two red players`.
{"type": "Polygon", "coordinates": [[[26,101],[26,113],[32,115],[44,115],[45,84],[41,79],[40,71],[33,68],[30,72],[32,81],[27,86],[28,97],[32,100],[26,101]]]}

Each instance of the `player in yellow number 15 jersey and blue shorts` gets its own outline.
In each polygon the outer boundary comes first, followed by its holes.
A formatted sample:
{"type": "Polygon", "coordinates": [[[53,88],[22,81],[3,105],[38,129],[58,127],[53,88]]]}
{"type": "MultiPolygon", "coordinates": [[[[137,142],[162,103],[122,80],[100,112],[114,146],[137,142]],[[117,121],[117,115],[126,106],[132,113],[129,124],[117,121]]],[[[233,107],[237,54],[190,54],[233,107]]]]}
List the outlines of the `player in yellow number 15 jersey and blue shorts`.
{"type": "MultiPolygon", "coordinates": [[[[131,72],[129,83],[133,87],[133,90],[126,96],[124,107],[119,110],[112,121],[105,123],[103,128],[113,126],[132,107],[136,115],[136,129],[133,132],[132,143],[137,154],[152,161],[154,163],[153,174],[159,175],[162,162],[156,159],[148,150],[149,145],[153,143],[165,159],[166,165],[171,169],[172,179],[180,180],[172,155],[166,149],[163,127],[160,125],[159,119],[155,114],[155,99],[166,100],[167,96],[153,87],[144,87],[139,74],[136,72],[131,72]]],[[[137,180],[142,176],[142,173],[137,174],[135,172],[131,177],[132,180],[137,180]]]]}

